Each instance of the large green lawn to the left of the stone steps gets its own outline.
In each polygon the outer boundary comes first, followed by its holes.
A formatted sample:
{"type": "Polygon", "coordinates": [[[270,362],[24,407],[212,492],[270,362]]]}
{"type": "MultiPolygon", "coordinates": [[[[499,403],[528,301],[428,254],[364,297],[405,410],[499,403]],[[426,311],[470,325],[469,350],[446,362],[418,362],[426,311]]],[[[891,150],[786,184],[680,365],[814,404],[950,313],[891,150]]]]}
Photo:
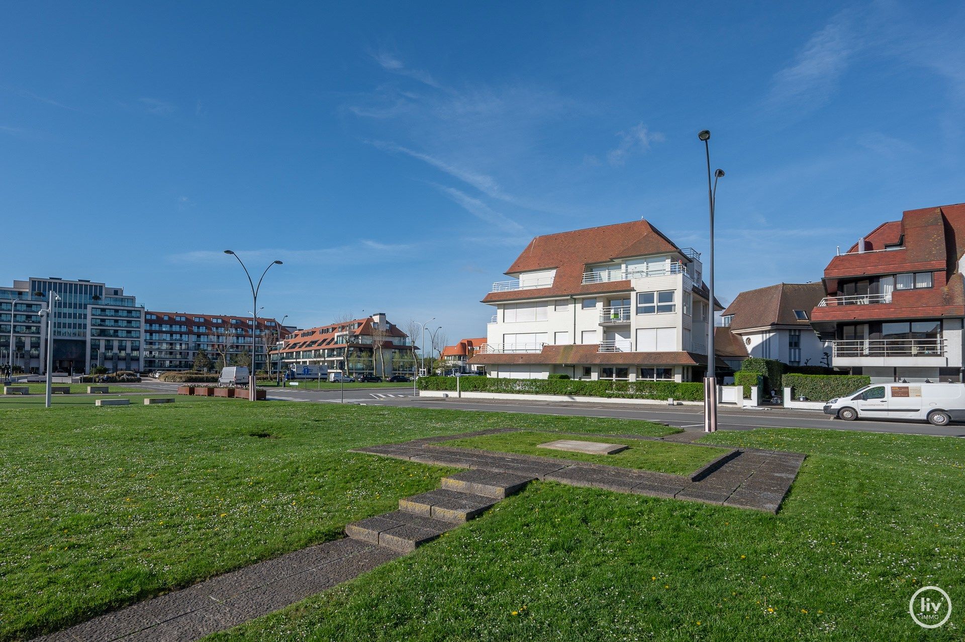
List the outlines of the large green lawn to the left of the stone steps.
{"type": "Polygon", "coordinates": [[[646,422],[179,397],[0,400],[0,640],[65,628],[341,537],[451,469],[351,448],[484,428],[676,432],[646,422]]]}

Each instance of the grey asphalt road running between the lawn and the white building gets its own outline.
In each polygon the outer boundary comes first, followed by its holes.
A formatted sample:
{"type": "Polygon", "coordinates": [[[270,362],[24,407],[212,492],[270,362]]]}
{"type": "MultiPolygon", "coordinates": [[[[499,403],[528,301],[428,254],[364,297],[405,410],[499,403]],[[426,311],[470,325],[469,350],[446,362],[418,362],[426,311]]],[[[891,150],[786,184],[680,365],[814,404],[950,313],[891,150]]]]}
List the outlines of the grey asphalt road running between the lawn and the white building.
{"type": "MultiPolygon", "coordinates": [[[[147,387],[171,392],[177,383],[145,382],[147,387]],[[164,386],[161,388],[160,386],[164,386]]],[[[339,390],[298,390],[295,388],[268,389],[269,399],[296,402],[335,403],[342,401],[339,390]]],[[[419,398],[412,395],[411,386],[398,388],[346,388],[346,404],[397,405],[424,408],[448,408],[473,412],[524,412],[583,417],[614,417],[659,421],[677,428],[703,428],[703,408],[697,405],[622,405],[578,404],[574,402],[530,402],[482,399],[419,398]]],[[[718,414],[722,430],[746,431],[761,427],[821,428],[839,431],[867,431],[872,433],[937,434],[965,436],[965,425],[937,428],[927,423],[890,421],[841,421],[813,410],[759,409],[720,406],[718,414]]]]}

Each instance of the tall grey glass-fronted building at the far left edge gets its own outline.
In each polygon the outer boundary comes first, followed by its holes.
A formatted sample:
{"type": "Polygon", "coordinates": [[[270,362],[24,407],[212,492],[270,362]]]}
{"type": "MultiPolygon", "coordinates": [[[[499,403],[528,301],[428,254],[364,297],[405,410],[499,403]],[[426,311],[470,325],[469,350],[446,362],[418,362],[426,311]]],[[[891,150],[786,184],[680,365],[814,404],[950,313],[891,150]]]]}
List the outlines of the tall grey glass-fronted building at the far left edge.
{"type": "Polygon", "coordinates": [[[46,368],[47,323],[41,318],[49,293],[54,301],[53,369],[70,375],[101,366],[139,372],[144,306],[123,288],[84,279],[32,277],[0,288],[0,363],[27,373],[46,368]],[[12,352],[13,350],[13,352],[12,352]]]}

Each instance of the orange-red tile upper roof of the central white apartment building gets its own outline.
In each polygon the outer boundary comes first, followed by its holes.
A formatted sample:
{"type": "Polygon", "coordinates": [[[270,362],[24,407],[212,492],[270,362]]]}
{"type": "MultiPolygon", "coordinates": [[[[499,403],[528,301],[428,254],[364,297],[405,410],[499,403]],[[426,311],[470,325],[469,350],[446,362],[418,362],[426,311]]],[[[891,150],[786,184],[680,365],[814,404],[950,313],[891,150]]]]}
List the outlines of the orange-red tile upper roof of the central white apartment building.
{"type": "MultiPolygon", "coordinates": [[[[483,298],[483,303],[541,296],[629,292],[629,281],[584,284],[583,273],[587,271],[587,265],[661,253],[676,253],[681,263],[690,263],[690,259],[680,252],[680,248],[670,238],[643,219],[535,237],[506,273],[512,276],[520,272],[556,269],[553,285],[547,288],[488,293],[483,298]]],[[[699,284],[698,292],[703,292],[703,296],[706,296],[706,286],[703,283],[699,284]]]]}

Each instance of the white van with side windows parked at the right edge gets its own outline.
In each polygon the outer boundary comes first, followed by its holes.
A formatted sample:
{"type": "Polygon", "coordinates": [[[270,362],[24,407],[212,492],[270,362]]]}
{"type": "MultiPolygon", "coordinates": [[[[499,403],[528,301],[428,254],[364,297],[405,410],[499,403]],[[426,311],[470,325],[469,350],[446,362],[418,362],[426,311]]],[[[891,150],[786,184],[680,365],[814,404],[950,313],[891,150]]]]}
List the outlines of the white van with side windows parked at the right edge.
{"type": "Polygon", "coordinates": [[[855,419],[918,419],[932,426],[965,420],[965,383],[872,383],[824,405],[824,413],[855,419]]]}

